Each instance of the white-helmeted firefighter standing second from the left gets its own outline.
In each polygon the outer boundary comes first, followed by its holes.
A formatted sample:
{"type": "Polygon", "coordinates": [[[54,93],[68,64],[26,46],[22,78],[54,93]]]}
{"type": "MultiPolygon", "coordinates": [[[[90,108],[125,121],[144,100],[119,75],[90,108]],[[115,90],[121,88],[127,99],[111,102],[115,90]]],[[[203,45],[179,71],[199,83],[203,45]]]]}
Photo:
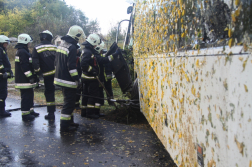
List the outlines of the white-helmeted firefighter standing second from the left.
{"type": "Polygon", "coordinates": [[[20,34],[15,48],[15,88],[20,89],[21,111],[23,121],[32,121],[39,113],[33,110],[34,91],[38,78],[32,67],[32,56],[28,47],[32,42],[32,37],[28,34],[20,34]]]}

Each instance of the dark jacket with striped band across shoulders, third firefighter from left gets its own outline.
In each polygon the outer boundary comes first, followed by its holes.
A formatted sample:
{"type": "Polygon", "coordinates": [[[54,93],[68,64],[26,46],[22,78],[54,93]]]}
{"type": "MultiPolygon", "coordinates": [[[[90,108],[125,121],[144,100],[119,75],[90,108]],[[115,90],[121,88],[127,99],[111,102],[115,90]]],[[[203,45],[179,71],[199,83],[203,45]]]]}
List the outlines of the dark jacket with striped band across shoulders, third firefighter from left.
{"type": "Polygon", "coordinates": [[[41,43],[33,48],[32,65],[34,71],[39,74],[43,73],[44,77],[52,76],[55,73],[54,61],[57,46],[52,45],[49,41],[41,43]]]}

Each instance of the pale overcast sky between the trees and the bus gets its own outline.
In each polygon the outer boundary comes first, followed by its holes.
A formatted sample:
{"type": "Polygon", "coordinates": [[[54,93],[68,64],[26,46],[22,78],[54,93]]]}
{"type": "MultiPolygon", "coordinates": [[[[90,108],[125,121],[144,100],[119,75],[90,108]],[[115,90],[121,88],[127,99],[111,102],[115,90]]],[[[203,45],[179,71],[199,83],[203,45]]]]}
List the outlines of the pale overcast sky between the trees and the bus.
{"type": "MultiPolygon", "coordinates": [[[[74,6],[84,12],[90,20],[97,19],[101,27],[101,33],[107,34],[112,25],[117,22],[129,19],[127,8],[130,3],[126,0],[65,0],[67,5],[74,6]]],[[[122,28],[127,27],[127,22],[123,22],[122,28]]]]}

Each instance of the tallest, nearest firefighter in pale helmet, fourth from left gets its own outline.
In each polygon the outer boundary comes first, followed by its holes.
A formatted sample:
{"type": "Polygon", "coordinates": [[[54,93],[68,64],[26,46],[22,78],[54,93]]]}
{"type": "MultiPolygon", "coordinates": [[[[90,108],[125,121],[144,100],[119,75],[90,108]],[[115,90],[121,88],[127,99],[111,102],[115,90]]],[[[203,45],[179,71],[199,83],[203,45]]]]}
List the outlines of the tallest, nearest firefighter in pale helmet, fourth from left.
{"type": "Polygon", "coordinates": [[[61,38],[62,42],[56,51],[54,84],[62,87],[64,96],[60,117],[61,132],[75,131],[78,128],[78,124],[73,121],[73,110],[77,88],[81,85],[76,67],[76,55],[79,48],[77,43],[81,38],[85,38],[83,29],[77,25],[70,27],[67,35],[61,38]]]}

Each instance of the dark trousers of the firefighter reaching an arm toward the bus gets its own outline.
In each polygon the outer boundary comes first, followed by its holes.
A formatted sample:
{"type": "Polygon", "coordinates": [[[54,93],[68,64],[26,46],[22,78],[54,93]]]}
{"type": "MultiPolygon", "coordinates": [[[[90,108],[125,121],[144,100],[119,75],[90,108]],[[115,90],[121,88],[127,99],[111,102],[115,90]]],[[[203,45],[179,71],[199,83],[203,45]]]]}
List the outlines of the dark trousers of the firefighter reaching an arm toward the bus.
{"type": "Polygon", "coordinates": [[[99,82],[95,80],[84,80],[83,86],[83,94],[92,96],[82,96],[82,106],[86,107],[86,114],[87,115],[99,115],[100,112],[100,103],[97,98],[99,97],[99,82]]]}

